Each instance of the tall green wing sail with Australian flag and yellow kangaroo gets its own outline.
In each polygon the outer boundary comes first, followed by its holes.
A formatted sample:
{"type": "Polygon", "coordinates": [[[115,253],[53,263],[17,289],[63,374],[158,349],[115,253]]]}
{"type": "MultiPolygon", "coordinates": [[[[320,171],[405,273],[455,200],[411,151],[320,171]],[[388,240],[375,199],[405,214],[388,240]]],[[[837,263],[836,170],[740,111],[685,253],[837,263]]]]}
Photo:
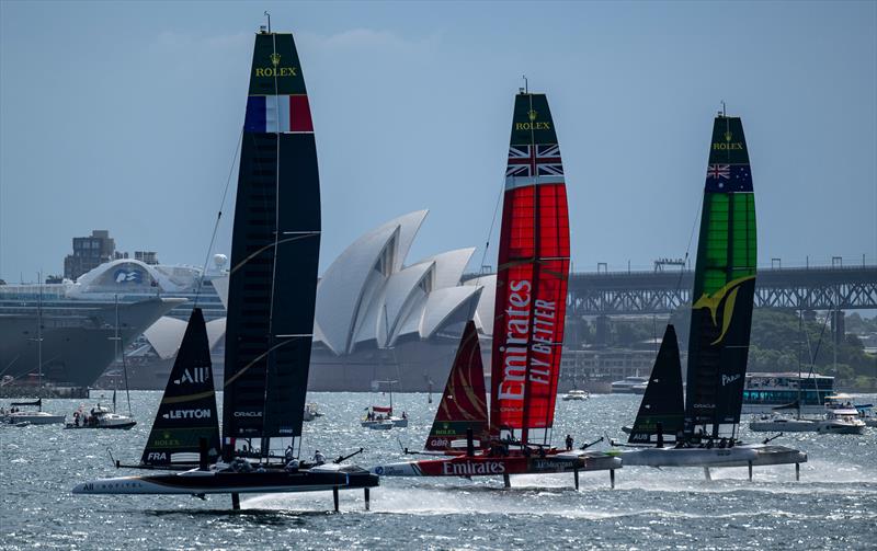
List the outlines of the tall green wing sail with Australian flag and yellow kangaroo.
{"type": "Polygon", "coordinates": [[[686,436],[733,436],[740,422],[755,255],[755,198],[743,125],[720,114],[713,125],[692,292],[686,436]],[[731,432],[720,432],[722,425],[731,432]]]}

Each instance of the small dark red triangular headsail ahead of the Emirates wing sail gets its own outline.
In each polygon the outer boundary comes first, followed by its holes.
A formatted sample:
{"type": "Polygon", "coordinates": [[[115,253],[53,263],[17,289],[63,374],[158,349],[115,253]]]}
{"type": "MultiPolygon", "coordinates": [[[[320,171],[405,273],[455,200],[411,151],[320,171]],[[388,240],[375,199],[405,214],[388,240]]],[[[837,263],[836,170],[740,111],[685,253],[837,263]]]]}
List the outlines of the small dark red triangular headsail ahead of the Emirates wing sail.
{"type": "Polygon", "coordinates": [[[487,432],[487,390],[485,389],[485,368],[481,365],[481,346],[475,322],[466,323],[463,331],[454,366],[447,376],[445,392],[430,436],[426,449],[447,450],[451,443],[466,438],[471,428],[476,439],[485,441],[487,432]]]}

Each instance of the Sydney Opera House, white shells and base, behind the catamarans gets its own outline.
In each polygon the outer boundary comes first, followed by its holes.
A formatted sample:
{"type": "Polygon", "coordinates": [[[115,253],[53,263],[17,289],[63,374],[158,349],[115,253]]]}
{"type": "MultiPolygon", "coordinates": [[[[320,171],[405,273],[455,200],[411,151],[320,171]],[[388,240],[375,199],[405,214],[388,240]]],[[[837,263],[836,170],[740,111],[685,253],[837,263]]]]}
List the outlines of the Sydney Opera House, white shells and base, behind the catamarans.
{"type": "Polygon", "coordinates": [[[365,233],[320,278],[311,390],[368,390],[372,381],[398,380],[400,390],[441,391],[466,321],[489,335],[496,276],[462,280],[474,248],[407,262],[426,214],[365,233]]]}

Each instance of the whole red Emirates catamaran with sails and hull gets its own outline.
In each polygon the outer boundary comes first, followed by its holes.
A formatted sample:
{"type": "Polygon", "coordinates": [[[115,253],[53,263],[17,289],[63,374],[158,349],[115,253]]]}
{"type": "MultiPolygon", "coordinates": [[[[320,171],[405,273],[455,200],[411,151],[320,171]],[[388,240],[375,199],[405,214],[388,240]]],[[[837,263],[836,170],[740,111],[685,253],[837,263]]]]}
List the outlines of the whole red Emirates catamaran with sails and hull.
{"type": "Polygon", "coordinates": [[[497,274],[490,415],[475,324],[464,331],[426,452],[372,469],[384,477],[614,470],[603,452],[551,447],[569,274],[560,146],[545,94],[515,96],[497,274]]]}

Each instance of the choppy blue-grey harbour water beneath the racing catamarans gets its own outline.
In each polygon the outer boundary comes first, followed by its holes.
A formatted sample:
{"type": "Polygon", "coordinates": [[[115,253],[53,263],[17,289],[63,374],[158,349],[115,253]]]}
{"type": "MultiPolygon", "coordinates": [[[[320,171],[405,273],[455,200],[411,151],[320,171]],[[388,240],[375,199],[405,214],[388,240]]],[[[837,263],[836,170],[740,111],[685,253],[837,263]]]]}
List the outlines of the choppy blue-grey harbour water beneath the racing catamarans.
{"type": "MultiPolygon", "coordinates": [[[[798,434],[777,443],[809,454],[795,482],[793,466],[747,470],[627,467],[616,490],[606,472],[500,479],[383,479],[364,512],[360,491],[242,496],[230,512],[226,495],[75,496],[75,483],[125,473],[110,463],[139,460],[160,392],[133,392],[139,424],[128,432],[62,431],[60,426],[0,428],[0,548],[27,549],[875,549],[877,428],[864,436],[798,434]]],[[[331,457],[360,446],[372,466],[401,457],[399,443],[419,449],[436,404],[425,394],[394,394],[410,426],[360,427],[368,394],[315,393],[326,413],[305,425],[305,452],[331,457]]],[[[868,397],[873,400],[873,397],[868,397]]],[[[436,400],[437,401],[437,400],[436,400]]],[[[79,402],[45,400],[69,414],[79,402]]],[[[124,403],[124,400],[121,401],[124,403]]],[[[381,402],[378,402],[381,403],[381,402]]],[[[594,395],[558,401],[555,440],[607,432],[620,437],[639,397],[594,395]]],[[[745,428],[747,440],[763,438],[745,428]]]]}

